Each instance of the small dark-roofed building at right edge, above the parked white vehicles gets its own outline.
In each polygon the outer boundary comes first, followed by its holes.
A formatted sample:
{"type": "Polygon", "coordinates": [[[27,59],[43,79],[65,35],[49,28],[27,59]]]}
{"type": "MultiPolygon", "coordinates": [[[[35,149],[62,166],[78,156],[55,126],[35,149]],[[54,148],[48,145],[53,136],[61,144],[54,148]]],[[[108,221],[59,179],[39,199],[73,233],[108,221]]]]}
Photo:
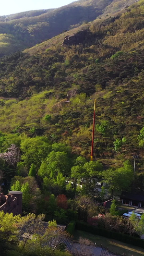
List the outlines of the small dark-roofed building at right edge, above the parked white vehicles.
{"type": "Polygon", "coordinates": [[[120,202],[134,207],[144,207],[144,194],[122,192],[120,202]]]}

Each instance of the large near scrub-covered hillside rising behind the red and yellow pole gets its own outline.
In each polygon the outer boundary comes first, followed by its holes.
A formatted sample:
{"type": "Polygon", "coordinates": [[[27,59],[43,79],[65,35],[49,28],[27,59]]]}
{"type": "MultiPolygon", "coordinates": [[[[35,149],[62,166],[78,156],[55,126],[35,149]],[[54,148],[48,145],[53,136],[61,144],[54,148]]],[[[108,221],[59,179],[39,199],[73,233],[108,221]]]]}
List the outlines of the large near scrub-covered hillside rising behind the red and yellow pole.
{"type": "Polygon", "coordinates": [[[81,44],[61,46],[66,32],[2,57],[1,131],[46,135],[89,158],[96,98],[95,157],[143,156],[143,27],[140,1],[120,16],[89,24],[81,44]]]}

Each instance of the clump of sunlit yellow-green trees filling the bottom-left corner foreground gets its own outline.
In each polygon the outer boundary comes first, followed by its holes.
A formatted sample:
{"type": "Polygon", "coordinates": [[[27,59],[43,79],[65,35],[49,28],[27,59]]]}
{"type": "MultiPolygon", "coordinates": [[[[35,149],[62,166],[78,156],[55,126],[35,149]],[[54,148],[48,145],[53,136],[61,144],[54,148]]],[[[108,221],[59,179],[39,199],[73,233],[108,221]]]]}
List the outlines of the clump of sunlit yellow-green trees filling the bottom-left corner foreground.
{"type": "Polygon", "coordinates": [[[0,211],[0,255],[70,256],[58,249],[69,235],[57,227],[55,220],[44,227],[45,215],[20,217],[0,211]]]}

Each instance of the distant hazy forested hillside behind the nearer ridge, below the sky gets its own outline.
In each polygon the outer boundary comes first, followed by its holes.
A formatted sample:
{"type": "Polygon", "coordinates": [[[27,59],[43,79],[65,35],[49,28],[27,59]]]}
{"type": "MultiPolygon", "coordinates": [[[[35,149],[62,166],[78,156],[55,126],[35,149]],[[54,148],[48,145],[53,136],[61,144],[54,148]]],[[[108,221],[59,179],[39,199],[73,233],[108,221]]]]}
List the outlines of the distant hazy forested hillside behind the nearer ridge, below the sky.
{"type": "Polygon", "coordinates": [[[99,15],[123,12],[134,1],[79,0],[57,9],[0,16],[0,57],[32,47],[65,30],[93,21],[99,15]]]}

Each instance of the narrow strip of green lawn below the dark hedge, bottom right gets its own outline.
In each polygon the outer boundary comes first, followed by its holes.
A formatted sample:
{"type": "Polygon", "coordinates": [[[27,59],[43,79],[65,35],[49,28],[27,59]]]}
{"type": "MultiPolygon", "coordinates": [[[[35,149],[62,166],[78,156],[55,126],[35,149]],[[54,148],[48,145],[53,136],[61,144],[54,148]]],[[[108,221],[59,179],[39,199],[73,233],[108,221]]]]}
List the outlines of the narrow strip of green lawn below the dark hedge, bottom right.
{"type": "Polygon", "coordinates": [[[78,240],[80,236],[91,240],[92,242],[96,243],[97,246],[102,244],[103,247],[108,247],[108,249],[113,253],[117,252],[121,255],[125,253],[125,256],[144,256],[143,248],[133,246],[131,244],[125,244],[104,236],[93,235],[88,232],[76,230],[74,233],[74,239],[78,240]]]}

